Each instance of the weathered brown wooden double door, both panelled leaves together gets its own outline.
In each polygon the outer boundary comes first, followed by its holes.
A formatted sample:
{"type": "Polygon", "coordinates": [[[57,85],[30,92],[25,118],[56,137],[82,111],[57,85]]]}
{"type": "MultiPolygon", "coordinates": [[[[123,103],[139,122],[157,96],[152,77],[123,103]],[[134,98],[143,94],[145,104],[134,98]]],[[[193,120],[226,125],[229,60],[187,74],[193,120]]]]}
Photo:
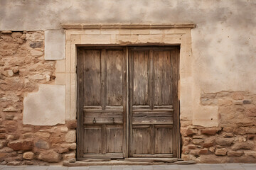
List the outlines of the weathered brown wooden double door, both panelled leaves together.
{"type": "Polygon", "coordinates": [[[178,157],[179,47],[78,47],[78,159],[178,157]]]}

